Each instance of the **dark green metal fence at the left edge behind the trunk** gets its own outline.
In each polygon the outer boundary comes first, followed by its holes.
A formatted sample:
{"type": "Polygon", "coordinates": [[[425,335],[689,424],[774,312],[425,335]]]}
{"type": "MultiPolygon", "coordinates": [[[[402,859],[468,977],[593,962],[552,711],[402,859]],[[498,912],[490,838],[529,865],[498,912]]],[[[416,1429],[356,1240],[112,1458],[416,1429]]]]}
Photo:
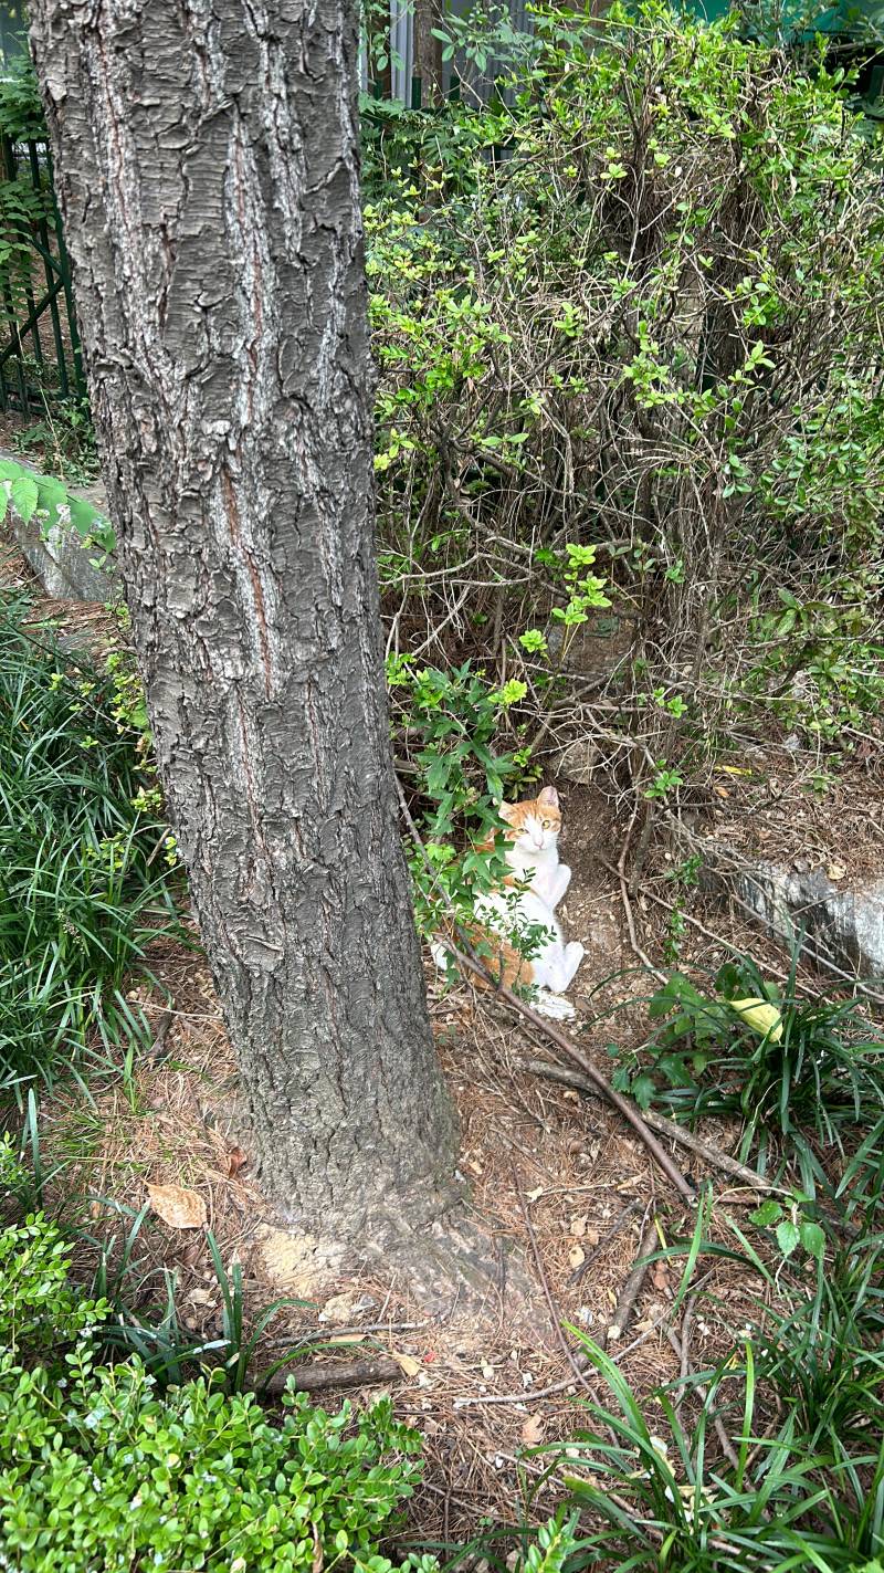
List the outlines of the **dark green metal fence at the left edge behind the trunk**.
{"type": "Polygon", "coordinates": [[[0,181],[0,409],[31,415],[87,392],[46,142],[2,137],[0,181]]]}

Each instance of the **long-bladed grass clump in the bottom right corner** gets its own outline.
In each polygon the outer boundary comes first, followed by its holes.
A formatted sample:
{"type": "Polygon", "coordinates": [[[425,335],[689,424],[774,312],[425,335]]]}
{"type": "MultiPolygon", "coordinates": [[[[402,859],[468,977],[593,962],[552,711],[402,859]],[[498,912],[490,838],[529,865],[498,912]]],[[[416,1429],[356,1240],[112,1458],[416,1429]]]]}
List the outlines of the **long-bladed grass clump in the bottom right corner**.
{"type": "MultiPolygon", "coordinates": [[[[585,1335],[582,1343],[609,1402],[587,1403],[591,1428],[554,1449],[552,1468],[582,1509],[574,1565],[859,1573],[881,1556],[884,1442],[873,1425],[843,1436],[837,1450],[827,1427],[805,1428],[791,1406],[771,1425],[771,1387],[752,1340],[716,1370],[657,1387],[643,1403],[601,1348],[585,1335]],[[697,1406],[691,1389],[700,1383],[697,1406]]],[[[881,1348],[868,1348],[867,1361],[881,1381],[881,1348]]],[[[849,1381],[845,1367],[842,1386],[849,1381]]]]}

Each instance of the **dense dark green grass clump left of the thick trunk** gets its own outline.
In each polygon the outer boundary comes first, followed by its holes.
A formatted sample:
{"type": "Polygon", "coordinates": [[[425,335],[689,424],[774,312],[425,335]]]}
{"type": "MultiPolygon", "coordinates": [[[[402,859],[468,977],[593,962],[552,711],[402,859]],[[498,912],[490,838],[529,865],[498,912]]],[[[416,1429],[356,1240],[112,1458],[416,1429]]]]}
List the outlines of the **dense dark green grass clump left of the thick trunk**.
{"type": "Polygon", "coordinates": [[[167,826],[120,680],[0,598],[0,1076],[9,1089],[143,1040],[124,983],[179,934],[167,826]]]}

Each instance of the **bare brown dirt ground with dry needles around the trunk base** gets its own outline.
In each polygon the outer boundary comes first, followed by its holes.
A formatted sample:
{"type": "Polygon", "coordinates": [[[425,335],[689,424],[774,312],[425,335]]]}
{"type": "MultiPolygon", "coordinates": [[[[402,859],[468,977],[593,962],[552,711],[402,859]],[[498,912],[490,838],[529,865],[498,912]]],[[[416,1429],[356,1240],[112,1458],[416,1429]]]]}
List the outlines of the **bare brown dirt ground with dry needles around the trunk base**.
{"type": "MultiPolygon", "coordinates": [[[[28,579],[11,552],[3,576],[6,582],[28,579]]],[[[41,601],[39,615],[63,618],[66,628],[76,623],[99,642],[107,629],[98,607],[72,610],[41,601]]],[[[653,982],[631,947],[613,871],[623,827],[593,790],[565,780],[558,786],[562,857],[574,870],[562,917],[568,936],[587,947],[573,991],[580,1007],[574,1038],[610,1074],[609,1044],[629,1048],[646,1032],[653,982]]],[[[722,801],[722,826],[728,804],[722,801]]],[[[815,856],[840,854],[834,835],[832,827],[832,842],[823,843],[820,832],[815,856]]],[[[670,864],[665,849],[654,849],[634,912],[640,944],[657,966],[667,938],[665,903],[672,903],[670,864]]],[[[761,967],[782,972],[783,958],[757,930],[705,908],[697,892],[689,912],[695,926],[681,941],[683,966],[713,971],[728,945],[747,945],[761,967]]],[[[393,1354],[401,1370],[392,1384],[396,1413],[426,1436],[426,1480],[409,1515],[411,1531],[423,1542],[462,1542],[486,1515],[505,1523],[522,1515],[546,1518],[555,1485],[543,1479],[547,1461],[524,1449],[573,1436],[588,1425],[585,1406],[593,1395],[606,1397],[599,1380],[576,1367],[579,1342],[563,1324],[604,1343],[648,1219],[656,1214],[659,1243],[672,1244],[689,1238],[694,1210],[615,1109],[525,1070],[527,1060],[554,1059],[552,1044],[532,1041],[497,1000],[466,985],[445,993],[428,967],[433,1027],[461,1115],[459,1172],[469,1206],[505,1252],[522,1262],[544,1335],[513,1332],[506,1293],[489,1291],[481,1318],[433,1320],[407,1282],[390,1282],[378,1268],[352,1262],[316,1282],[305,1276],[297,1236],[282,1230],[264,1203],[253,1155],[241,1145],[231,1114],[236,1068],[203,960],[167,945],[151,961],[159,988],[142,989],[140,997],[157,1024],[154,1051],[126,1074],[90,1082],[88,1100],[72,1084],[42,1100],[44,1162],[61,1166],[52,1183],[57,1199],[82,1197],[93,1235],[115,1240],[120,1255],[132,1218],[148,1200],[148,1184],[198,1192],[227,1273],[234,1265],[242,1269],[252,1324],[278,1296],[293,1299],[264,1329],[256,1373],[291,1348],[300,1348],[299,1357],[307,1348],[310,1359],[348,1362],[378,1351],[393,1354]]],[[[736,1145],[736,1129],[713,1126],[702,1134],[725,1151],[736,1145]]],[[[713,1181],[713,1233],[733,1238],[728,1219],[742,1222],[755,1197],[669,1145],[694,1181],[713,1181]]],[[[609,1345],[639,1392],[722,1357],[744,1326],[763,1285],[733,1263],[709,1260],[692,1288],[687,1350],[670,1326],[678,1260],[651,1268],[623,1335],[609,1345]]],[[[87,1280],[93,1266],[94,1251],[83,1244],[87,1280]]],[[[186,1328],[200,1340],[220,1337],[222,1295],[204,1229],[171,1229],[151,1213],[129,1276],[135,1309],[148,1312],[162,1301],[167,1269],[176,1277],[186,1328]]],[[[363,1402],[378,1391],[357,1389],[351,1397],[363,1402]]],[[[326,1402],[337,1403],[338,1395],[326,1402]]]]}

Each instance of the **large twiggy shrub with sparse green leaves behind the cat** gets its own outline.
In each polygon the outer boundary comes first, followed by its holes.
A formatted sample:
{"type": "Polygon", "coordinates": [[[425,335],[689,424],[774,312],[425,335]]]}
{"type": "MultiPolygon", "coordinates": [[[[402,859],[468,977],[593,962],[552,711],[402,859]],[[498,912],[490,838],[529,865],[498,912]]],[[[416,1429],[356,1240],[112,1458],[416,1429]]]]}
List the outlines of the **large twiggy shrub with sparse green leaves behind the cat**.
{"type": "Polygon", "coordinates": [[[738,713],[843,757],[884,691],[879,145],[821,58],[654,0],[536,8],[532,50],[513,109],[370,156],[396,650],[525,683],[529,742],[632,738],[618,791],[678,794],[738,713]],[[566,541],[631,629],[604,724],[549,639],[566,541]]]}

